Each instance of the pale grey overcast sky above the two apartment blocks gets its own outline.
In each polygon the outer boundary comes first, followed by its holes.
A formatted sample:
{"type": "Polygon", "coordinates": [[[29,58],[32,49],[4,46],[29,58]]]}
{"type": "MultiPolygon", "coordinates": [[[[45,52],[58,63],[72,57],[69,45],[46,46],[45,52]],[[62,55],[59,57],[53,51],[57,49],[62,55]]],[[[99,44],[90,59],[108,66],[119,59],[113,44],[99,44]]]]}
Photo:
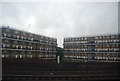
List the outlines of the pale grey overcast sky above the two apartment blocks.
{"type": "Polygon", "coordinates": [[[0,7],[2,25],[57,38],[60,47],[64,37],[118,33],[117,2],[3,2],[0,7]]]}

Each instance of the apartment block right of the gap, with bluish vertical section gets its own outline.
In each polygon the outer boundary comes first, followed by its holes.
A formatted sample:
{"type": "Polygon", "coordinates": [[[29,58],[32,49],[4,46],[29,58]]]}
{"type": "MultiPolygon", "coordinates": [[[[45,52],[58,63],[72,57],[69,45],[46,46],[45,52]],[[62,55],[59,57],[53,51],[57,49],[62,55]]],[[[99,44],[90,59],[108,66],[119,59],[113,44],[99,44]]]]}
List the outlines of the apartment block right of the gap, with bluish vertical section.
{"type": "Polygon", "coordinates": [[[64,61],[120,60],[120,34],[64,38],[64,61]]]}

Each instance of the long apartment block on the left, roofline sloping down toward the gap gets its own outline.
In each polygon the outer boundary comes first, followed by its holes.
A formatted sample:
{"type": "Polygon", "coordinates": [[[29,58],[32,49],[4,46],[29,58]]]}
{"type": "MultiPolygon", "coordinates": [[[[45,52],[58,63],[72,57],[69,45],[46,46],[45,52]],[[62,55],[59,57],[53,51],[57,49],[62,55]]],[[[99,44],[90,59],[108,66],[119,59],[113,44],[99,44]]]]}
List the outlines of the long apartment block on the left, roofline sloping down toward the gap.
{"type": "Polygon", "coordinates": [[[57,39],[2,26],[2,58],[56,59],[57,39]]]}

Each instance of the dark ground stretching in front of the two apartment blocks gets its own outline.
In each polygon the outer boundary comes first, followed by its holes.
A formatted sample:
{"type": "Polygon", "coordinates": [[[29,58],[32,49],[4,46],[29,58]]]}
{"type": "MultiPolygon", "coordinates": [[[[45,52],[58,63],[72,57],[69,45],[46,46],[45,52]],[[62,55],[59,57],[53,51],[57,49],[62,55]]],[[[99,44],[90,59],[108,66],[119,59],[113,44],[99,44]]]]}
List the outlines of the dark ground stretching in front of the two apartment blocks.
{"type": "Polygon", "coordinates": [[[3,62],[3,81],[120,80],[119,62],[20,63],[3,62]]]}

